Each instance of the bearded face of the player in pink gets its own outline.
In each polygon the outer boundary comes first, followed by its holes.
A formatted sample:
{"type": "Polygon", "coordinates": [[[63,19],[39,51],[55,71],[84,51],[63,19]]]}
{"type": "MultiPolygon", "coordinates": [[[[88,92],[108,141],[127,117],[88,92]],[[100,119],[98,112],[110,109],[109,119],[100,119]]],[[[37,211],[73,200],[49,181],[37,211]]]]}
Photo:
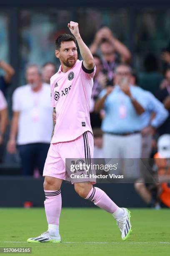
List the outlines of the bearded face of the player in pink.
{"type": "Polygon", "coordinates": [[[62,42],[59,51],[59,58],[66,67],[74,66],[77,61],[77,47],[74,41],[62,42]]]}

